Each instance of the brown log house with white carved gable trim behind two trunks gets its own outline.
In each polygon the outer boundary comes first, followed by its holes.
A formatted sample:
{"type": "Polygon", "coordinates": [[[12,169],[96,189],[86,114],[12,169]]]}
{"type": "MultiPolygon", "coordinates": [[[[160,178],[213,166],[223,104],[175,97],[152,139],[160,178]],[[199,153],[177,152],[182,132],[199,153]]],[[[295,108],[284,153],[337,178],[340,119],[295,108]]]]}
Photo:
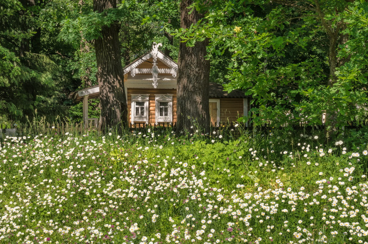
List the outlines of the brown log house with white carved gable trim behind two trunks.
{"type": "MultiPolygon", "coordinates": [[[[124,68],[124,87],[128,103],[129,123],[157,124],[177,121],[178,65],[153,45],[150,52],[124,68]]],[[[87,100],[99,96],[99,87],[93,86],[71,93],[75,102],[83,100],[83,118],[89,120],[87,100]]],[[[209,84],[209,114],[213,126],[235,122],[247,115],[250,99],[243,91],[223,91],[220,84],[209,84]]],[[[96,120],[96,119],[95,119],[96,120]]],[[[95,121],[96,122],[96,121],[95,121]]]]}

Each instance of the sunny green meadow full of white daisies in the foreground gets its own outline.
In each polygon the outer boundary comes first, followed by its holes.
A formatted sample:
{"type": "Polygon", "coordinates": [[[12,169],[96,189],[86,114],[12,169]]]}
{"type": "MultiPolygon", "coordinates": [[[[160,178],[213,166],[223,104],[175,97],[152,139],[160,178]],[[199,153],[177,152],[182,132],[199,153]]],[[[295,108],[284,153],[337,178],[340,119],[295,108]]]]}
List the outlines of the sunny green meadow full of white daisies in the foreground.
{"type": "Polygon", "coordinates": [[[368,243],[366,133],[240,134],[6,137],[0,243],[368,243]]]}

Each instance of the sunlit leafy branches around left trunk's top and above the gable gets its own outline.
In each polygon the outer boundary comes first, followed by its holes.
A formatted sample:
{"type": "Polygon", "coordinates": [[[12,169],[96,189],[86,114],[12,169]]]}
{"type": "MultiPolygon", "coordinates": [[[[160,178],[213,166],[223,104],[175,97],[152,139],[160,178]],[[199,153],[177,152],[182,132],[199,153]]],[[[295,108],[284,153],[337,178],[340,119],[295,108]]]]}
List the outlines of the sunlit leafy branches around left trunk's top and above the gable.
{"type": "MultiPolygon", "coordinates": [[[[65,1],[63,1],[65,2],[65,1]]],[[[62,26],[60,39],[79,47],[82,38],[92,42],[100,36],[101,26],[110,25],[114,21],[121,23],[121,51],[124,60],[129,64],[151,48],[153,42],[163,43],[163,49],[171,50],[172,57],[177,57],[178,49],[169,44],[163,36],[162,25],[166,23],[164,30],[170,26],[178,25],[178,16],[175,3],[168,1],[123,1],[117,9],[106,10],[103,13],[92,11],[92,1],[86,1],[83,7],[71,1],[74,6],[67,12],[63,12],[63,19],[58,19],[55,24],[62,26]],[[165,10],[165,20],[157,18],[157,14],[165,10]],[[176,12],[175,12],[176,11],[176,12]]],[[[50,3],[55,5],[55,3],[50,3]]],[[[66,4],[64,4],[66,5],[66,4]]],[[[71,5],[67,5],[71,6],[71,5]]],[[[59,15],[60,11],[49,8],[51,15],[59,15]]]]}

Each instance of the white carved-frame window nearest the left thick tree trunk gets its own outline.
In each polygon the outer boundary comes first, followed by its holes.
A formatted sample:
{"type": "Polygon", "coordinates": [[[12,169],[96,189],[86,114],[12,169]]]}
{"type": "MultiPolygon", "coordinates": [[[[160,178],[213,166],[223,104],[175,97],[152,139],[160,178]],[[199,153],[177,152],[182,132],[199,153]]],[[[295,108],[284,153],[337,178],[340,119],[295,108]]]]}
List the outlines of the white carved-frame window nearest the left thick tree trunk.
{"type": "Polygon", "coordinates": [[[132,117],[131,121],[134,122],[147,122],[148,123],[148,95],[132,95],[132,117]]]}

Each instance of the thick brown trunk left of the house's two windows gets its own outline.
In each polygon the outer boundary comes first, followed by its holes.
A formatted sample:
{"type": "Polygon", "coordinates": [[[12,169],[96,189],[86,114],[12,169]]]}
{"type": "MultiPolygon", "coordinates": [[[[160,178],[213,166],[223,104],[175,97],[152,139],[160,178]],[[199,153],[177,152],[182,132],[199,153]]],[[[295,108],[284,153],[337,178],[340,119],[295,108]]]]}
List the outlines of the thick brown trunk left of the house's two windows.
{"type": "MultiPolygon", "coordinates": [[[[93,9],[97,12],[116,8],[116,0],[94,0],[93,9]]],[[[124,70],[121,66],[118,23],[103,26],[101,37],[95,40],[97,81],[100,87],[101,118],[100,128],[127,126],[128,107],[124,90],[124,70]]]]}

